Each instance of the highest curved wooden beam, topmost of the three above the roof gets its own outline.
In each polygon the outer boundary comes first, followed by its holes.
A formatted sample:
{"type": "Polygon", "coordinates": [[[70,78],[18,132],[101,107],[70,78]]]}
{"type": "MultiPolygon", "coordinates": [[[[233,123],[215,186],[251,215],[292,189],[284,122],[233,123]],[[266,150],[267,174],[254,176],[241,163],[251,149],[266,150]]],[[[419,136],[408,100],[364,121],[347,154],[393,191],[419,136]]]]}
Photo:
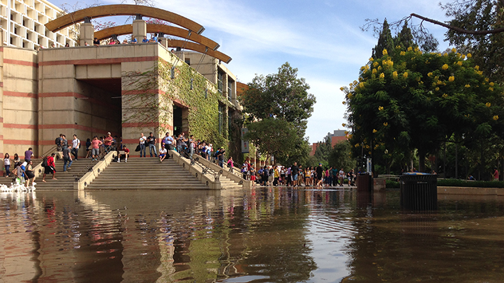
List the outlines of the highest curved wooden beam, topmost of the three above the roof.
{"type": "Polygon", "coordinates": [[[149,6],[126,5],[126,4],[104,5],[77,10],[73,13],[58,17],[55,20],[52,20],[51,22],[45,24],[45,26],[50,31],[56,32],[59,31],[60,29],[66,28],[67,26],[76,24],[77,22],[82,22],[85,17],[97,18],[97,17],[137,15],[137,14],[146,17],[154,17],[156,19],[163,20],[166,22],[171,22],[173,24],[177,24],[178,26],[182,26],[190,31],[194,31],[195,33],[198,34],[201,34],[205,30],[205,28],[202,25],[193,22],[192,20],[189,20],[186,17],[182,17],[181,15],[169,12],[167,10],[161,10],[149,6]]]}

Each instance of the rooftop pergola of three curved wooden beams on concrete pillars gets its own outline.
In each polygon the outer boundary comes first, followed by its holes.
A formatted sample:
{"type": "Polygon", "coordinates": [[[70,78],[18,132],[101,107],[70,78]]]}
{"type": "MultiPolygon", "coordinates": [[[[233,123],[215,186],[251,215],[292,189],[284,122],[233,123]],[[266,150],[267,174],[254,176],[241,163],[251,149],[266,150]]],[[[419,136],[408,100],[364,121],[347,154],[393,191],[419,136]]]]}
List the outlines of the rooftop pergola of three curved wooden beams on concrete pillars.
{"type": "Polygon", "coordinates": [[[84,23],[80,24],[80,46],[84,46],[85,43],[92,45],[95,37],[98,38],[98,40],[102,40],[111,38],[114,35],[121,36],[131,33],[140,41],[144,36],[147,36],[147,33],[161,33],[186,39],[168,40],[167,38],[162,38],[162,44],[165,45],[165,47],[190,49],[212,56],[225,63],[231,61],[230,56],[216,51],[219,47],[218,43],[200,35],[205,30],[203,26],[176,13],[149,6],[118,4],[85,8],[58,17],[51,22],[47,22],[45,26],[50,31],[56,32],[67,26],[83,21],[84,23]],[[96,31],[95,33],[94,26],[91,24],[91,19],[116,15],[136,15],[136,20],[134,20],[131,25],[113,26],[108,29],[96,31]],[[142,20],[143,16],[170,22],[177,26],[181,26],[181,28],[164,24],[147,24],[142,20]],[[188,40],[191,40],[191,42],[188,40]]]}

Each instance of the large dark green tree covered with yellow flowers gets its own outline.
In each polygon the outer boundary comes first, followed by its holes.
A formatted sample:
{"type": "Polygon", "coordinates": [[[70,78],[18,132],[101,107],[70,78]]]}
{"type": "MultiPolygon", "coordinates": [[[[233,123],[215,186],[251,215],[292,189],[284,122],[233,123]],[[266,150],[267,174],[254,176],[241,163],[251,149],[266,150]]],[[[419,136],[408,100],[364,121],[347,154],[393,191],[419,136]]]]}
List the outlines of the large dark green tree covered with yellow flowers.
{"type": "MultiPolygon", "coordinates": [[[[359,84],[344,87],[355,153],[436,153],[447,137],[483,137],[499,129],[501,87],[464,54],[424,53],[417,47],[383,52],[361,68],[359,84]],[[399,75],[401,74],[401,75],[399,75]],[[369,150],[368,150],[369,148],[369,150]]],[[[373,156],[376,164],[378,155],[373,156]]]]}

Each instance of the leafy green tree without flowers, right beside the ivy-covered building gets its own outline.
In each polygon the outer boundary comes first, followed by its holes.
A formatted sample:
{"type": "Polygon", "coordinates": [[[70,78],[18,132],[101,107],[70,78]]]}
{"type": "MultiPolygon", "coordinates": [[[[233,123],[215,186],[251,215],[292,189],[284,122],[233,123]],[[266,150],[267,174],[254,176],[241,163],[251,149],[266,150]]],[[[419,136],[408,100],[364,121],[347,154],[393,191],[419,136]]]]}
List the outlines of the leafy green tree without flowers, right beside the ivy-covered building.
{"type": "Polygon", "coordinates": [[[309,88],[289,63],[284,63],[276,74],[256,75],[240,97],[244,112],[249,114],[245,138],[260,152],[274,155],[277,162],[308,155],[304,133],[316,102],[309,88]]]}

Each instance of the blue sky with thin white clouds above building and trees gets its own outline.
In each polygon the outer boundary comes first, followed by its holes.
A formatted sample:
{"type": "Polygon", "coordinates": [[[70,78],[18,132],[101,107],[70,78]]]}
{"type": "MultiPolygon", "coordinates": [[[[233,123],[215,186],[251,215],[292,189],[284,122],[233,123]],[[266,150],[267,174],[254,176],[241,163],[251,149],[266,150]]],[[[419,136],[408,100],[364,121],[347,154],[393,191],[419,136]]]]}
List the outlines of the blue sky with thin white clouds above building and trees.
{"type": "MultiPolygon", "coordinates": [[[[73,5],[77,1],[52,1],[73,5]]],[[[445,3],[446,1],[443,1],[445,3]]],[[[82,8],[94,1],[79,1],[82,8]]],[[[120,3],[101,1],[100,3],[120,3]]],[[[285,62],[298,68],[316,96],[306,136],[318,142],[327,132],[343,129],[346,111],[339,90],[357,79],[376,45],[372,31],[361,31],[366,18],[389,22],[417,13],[447,20],[439,2],[432,0],[165,0],[157,7],[169,10],[205,26],[203,36],[221,45],[219,51],[232,57],[228,68],[239,82],[248,83],[258,75],[275,73],[285,62]]],[[[106,19],[106,18],[103,18],[106,19]]],[[[124,24],[119,22],[118,24],[124,24]]],[[[413,24],[420,23],[413,20],[413,24]]],[[[424,23],[445,50],[445,29],[424,23]]],[[[394,33],[394,31],[392,31],[394,33]]]]}

